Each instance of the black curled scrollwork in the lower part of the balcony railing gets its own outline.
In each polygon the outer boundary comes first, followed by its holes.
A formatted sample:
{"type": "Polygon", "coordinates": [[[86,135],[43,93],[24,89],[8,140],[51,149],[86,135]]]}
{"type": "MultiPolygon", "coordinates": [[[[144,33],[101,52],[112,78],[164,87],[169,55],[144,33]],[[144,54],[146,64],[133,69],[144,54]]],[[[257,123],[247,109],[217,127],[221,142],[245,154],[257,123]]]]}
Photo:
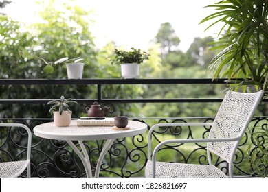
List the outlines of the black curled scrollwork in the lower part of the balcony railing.
{"type": "MultiPolygon", "coordinates": [[[[135,121],[142,121],[144,123],[151,122],[152,119],[134,119],[135,121]]],[[[200,120],[200,119],[199,119],[200,120]]],[[[203,119],[204,122],[212,121],[212,118],[203,119]]],[[[34,126],[47,122],[45,119],[41,121],[40,119],[32,120],[16,120],[17,123],[24,123],[28,125],[31,130],[34,126]]],[[[172,123],[172,122],[187,122],[192,121],[191,119],[155,119],[156,123],[172,123]]],[[[150,123],[148,124],[148,129],[150,129],[150,123]]],[[[252,130],[246,132],[243,137],[241,144],[238,147],[236,156],[234,157],[234,174],[238,175],[250,175],[252,174],[251,169],[245,166],[248,161],[247,148],[249,143],[252,143],[253,147],[249,154],[252,154],[256,150],[257,143],[254,143],[252,139],[252,134],[257,132],[258,128],[266,128],[267,118],[255,118],[252,119],[252,130]]],[[[24,137],[27,136],[22,130],[16,130],[16,136],[12,137],[10,135],[10,129],[5,128],[0,131],[0,160],[12,160],[20,159],[23,157],[23,152],[25,151],[24,137]],[[9,152],[8,149],[12,149],[9,152]]],[[[169,138],[197,138],[201,136],[205,138],[208,136],[210,128],[203,127],[201,130],[193,130],[190,127],[168,127],[159,128],[153,132],[153,142],[155,145],[159,143],[164,135],[169,138]]],[[[105,177],[143,177],[144,167],[147,161],[147,133],[133,136],[132,138],[122,138],[115,139],[113,145],[108,150],[104,157],[100,168],[100,176],[105,177]]],[[[259,138],[260,143],[262,138],[259,138]]],[[[96,162],[98,156],[104,147],[105,141],[84,141],[85,147],[89,154],[89,159],[91,160],[91,169],[94,171],[96,169],[96,162]]],[[[166,154],[160,158],[167,158],[169,161],[178,160],[180,163],[199,163],[205,164],[208,159],[206,156],[205,145],[200,143],[195,143],[188,147],[185,143],[177,145],[165,145],[161,152],[166,154]],[[171,154],[172,155],[169,155],[171,154]],[[170,159],[168,159],[170,158],[170,159]],[[194,160],[192,160],[194,159],[194,160]]],[[[160,153],[161,153],[160,152],[160,153]]],[[[227,173],[227,163],[219,158],[214,158],[212,156],[213,162],[216,166],[220,167],[223,171],[227,173]]],[[[71,177],[80,178],[85,177],[85,169],[82,166],[80,158],[73,152],[71,147],[66,143],[66,141],[57,141],[49,139],[41,139],[37,136],[32,136],[32,155],[31,155],[31,168],[32,177],[47,178],[47,177],[71,177]]],[[[26,174],[23,173],[22,177],[26,174]]]]}

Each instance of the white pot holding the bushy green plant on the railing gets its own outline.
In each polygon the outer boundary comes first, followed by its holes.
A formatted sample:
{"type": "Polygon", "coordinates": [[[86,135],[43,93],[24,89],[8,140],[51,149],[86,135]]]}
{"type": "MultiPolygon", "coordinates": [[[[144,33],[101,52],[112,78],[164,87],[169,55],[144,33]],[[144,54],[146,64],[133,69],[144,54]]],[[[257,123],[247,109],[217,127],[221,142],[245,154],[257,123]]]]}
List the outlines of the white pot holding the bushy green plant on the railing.
{"type": "Polygon", "coordinates": [[[132,79],[139,76],[139,64],[124,63],[121,64],[121,75],[126,79],[132,79]]]}

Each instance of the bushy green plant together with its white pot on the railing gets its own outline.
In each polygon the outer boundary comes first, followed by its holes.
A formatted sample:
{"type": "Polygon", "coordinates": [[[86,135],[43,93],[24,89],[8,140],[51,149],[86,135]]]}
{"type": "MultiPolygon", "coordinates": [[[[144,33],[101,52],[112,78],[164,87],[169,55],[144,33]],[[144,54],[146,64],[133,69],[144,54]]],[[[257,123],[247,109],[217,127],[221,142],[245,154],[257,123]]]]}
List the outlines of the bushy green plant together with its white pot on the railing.
{"type": "Polygon", "coordinates": [[[124,78],[135,78],[139,76],[139,64],[149,60],[149,54],[140,49],[131,48],[131,51],[120,51],[114,49],[111,56],[111,64],[120,64],[121,73],[124,78]]]}

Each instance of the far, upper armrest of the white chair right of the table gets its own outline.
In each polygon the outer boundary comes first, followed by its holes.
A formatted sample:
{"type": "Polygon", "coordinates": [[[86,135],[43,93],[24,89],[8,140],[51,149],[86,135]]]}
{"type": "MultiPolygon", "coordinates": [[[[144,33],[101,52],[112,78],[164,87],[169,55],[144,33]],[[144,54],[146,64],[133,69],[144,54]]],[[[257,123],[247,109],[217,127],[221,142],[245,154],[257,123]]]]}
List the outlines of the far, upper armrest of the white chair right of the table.
{"type": "Polygon", "coordinates": [[[155,128],[159,127],[169,127],[169,126],[175,126],[175,127],[186,127],[186,126],[192,126],[192,127],[197,127],[197,126],[212,126],[213,123],[158,123],[153,125],[152,128],[150,128],[148,132],[148,159],[150,160],[150,154],[151,154],[151,140],[152,140],[152,133],[155,128]]]}

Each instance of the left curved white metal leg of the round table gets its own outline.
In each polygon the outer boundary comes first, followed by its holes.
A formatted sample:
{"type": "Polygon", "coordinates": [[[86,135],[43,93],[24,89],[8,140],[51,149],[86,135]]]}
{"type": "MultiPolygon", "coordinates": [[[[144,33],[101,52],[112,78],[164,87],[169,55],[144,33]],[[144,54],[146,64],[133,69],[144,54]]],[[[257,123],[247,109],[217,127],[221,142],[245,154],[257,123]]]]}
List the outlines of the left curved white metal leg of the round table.
{"type": "Polygon", "coordinates": [[[85,171],[87,173],[87,178],[92,178],[92,171],[91,171],[91,165],[89,161],[89,155],[87,154],[87,150],[85,149],[85,145],[82,143],[82,141],[78,141],[83,154],[80,152],[80,150],[74,145],[72,141],[67,141],[67,143],[71,146],[72,149],[74,149],[74,152],[78,154],[80,159],[82,160],[82,163],[85,167],[85,171]]]}

